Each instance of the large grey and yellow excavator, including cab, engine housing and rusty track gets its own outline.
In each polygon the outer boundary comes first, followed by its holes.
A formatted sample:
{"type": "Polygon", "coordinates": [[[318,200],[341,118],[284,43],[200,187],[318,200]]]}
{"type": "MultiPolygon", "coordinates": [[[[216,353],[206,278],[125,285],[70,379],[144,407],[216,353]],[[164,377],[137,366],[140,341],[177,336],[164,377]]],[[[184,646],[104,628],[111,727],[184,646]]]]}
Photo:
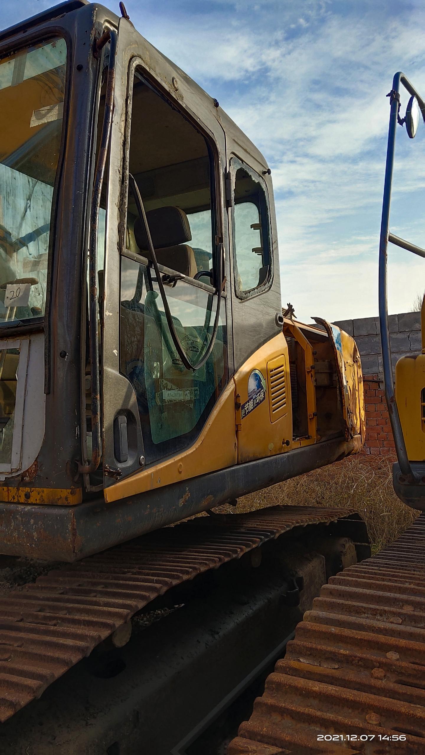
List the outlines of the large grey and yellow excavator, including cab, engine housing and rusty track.
{"type": "Polygon", "coordinates": [[[213,511],[361,449],[361,362],[282,310],[270,168],[119,7],[0,32],[12,755],[183,752],[370,555],[352,510],[213,511]]]}

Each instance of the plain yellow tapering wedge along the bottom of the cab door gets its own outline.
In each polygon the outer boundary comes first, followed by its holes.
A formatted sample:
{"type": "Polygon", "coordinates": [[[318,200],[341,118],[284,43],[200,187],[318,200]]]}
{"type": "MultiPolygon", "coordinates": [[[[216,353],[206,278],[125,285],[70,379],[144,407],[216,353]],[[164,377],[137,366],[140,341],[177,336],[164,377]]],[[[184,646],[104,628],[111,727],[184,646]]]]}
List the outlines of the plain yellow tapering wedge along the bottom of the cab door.
{"type": "Polygon", "coordinates": [[[116,482],[115,485],[105,488],[105,500],[118,501],[119,498],[127,498],[129,495],[163,488],[164,485],[171,485],[172,482],[231,467],[236,462],[234,382],[231,380],[194,445],[182,451],[181,454],[165,459],[154,467],[136,472],[116,482]]]}

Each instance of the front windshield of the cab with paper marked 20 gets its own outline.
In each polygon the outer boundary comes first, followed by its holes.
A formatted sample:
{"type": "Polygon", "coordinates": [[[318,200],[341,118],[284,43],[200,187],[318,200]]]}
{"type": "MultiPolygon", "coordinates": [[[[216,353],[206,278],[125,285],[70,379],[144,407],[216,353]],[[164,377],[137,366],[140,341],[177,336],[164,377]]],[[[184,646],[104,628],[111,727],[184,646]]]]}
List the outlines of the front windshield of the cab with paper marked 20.
{"type": "Polygon", "coordinates": [[[67,45],[0,59],[0,325],[45,313],[67,45]]]}

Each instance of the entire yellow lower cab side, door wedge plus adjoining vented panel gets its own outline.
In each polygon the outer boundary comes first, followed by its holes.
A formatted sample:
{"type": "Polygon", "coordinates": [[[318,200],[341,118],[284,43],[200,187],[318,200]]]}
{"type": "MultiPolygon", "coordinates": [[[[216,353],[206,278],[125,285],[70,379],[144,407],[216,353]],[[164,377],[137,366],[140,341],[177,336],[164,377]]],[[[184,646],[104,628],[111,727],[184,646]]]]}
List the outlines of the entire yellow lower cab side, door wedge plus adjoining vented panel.
{"type": "Polygon", "coordinates": [[[119,498],[172,485],[173,482],[182,479],[191,479],[231,467],[232,464],[265,458],[290,448],[292,407],[289,357],[284,334],[279,333],[250,356],[229,381],[202,433],[191,448],[110,485],[104,491],[105,500],[117,501],[119,498]],[[279,369],[282,365],[285,379],[284,406],[282,401],[278,400],[283,395],[280,390],[282,371],[279,369]],[[256,407],[241,419],[242,407],[250,400],[248,382],[253,371],[262,374],[265,394],[264,398],[260,396],[262,400],[256,407]],[[271,390],[273,406],[268,399],[271,390]],[[287,440],[290,445],[286,445],[287,440]]]}

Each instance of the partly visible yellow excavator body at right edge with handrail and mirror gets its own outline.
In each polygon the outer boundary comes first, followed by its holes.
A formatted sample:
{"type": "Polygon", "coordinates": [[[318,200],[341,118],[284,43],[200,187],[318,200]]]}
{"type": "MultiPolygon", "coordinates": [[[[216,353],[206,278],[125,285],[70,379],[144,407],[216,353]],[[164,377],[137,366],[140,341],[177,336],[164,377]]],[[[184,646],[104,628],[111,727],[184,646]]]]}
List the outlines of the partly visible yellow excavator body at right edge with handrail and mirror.
{"type": "Polygon", "coordinates": [[[406,128],[408,137],[417,133],[420,119],[425,124],[425,103],[404,73],[398,72],[392,80],[389,92],[389,136],[386,152],[386,171],[383,191],[383,212],[380,229],[379,262],[379,313],[380,338],[383,358],[383,379],[392,434],[396,445],[398,463],[393,465],[394,489],[405,504],[425,510],[425,297],[423,298],[420,324],[422,353],[403,356],[396,363],[396,386],[392,374],[392,358],[389,344],[388,307],[386,297],[386,269],[388,243],[425,257],[425,249],[400,239],[389,231],[392,171],[396,146],[397,125],[406,128]],[[405,117],[401,118],[400,93],[409,95],[405,117]]]}

